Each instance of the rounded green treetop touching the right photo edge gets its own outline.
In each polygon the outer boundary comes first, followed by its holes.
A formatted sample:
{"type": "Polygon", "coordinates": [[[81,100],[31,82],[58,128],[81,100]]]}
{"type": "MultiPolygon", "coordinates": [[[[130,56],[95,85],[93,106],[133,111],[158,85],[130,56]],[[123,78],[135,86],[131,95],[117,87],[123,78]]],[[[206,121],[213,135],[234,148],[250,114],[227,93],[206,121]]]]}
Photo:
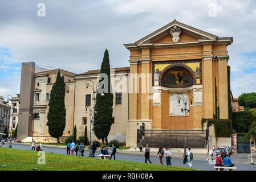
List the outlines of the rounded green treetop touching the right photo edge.
{"type": "Polygon", "coordinates": [[[243,93],[238,97],[238,104],[251,108],[256,108],[256,93],[243,93]]]}

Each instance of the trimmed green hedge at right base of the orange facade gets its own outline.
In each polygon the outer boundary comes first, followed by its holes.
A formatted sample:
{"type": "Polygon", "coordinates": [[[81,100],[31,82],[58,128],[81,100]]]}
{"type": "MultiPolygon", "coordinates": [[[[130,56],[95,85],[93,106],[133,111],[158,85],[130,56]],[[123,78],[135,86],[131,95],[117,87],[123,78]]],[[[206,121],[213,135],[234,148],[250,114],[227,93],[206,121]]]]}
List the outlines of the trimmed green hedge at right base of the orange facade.
{"type": "Polygon", "coordinates": [[[230,137],[232,134],[232,121],[230,119],[202,118],[202,129],[204,128],[205,122],[208,122],[209,126],[214,125],[215,137],[230,137]]]}

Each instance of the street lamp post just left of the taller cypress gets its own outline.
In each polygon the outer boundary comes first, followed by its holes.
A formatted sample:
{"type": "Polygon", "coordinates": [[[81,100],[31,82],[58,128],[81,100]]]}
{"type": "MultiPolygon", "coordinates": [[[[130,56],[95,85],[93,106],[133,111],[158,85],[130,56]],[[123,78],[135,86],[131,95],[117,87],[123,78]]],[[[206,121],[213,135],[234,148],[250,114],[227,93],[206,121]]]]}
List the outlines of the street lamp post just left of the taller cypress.
{"type": "MultiPolygon", "coordinates": [[[[91,106],[90,109],[90,117],[92,115],[92,122],[90,123],[90,133],[91,133],[91,141],[90,141],[90,154],[89,157],[92,158],[93,154],[92,154],[92,141],[94,139],[94,113],[96,113],[97,111],[95,111],[95,100],[96,100],[96,89],[94,86],[94,82],[92,80],[87,80],[86,81],[86,88],[88,89],[89,86],[92,88],[92,100],[94,100],[94,104],[91,106]]],[[[101,96],[104,96],[104,93],[101,93],[101,96]]]]}

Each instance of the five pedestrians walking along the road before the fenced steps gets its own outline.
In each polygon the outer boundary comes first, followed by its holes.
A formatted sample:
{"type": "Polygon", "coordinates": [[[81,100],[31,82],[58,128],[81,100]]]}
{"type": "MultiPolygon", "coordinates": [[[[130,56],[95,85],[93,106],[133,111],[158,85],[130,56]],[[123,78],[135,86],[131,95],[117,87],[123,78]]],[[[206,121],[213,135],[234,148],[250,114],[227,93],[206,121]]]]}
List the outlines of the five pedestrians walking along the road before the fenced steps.
{"type": "MultiPolygon", "coordinates": [[[[140,145],[140,152],[142,151],[142,146],[140,145]]],[[[145,163],[151,163],[151,160],[149,159],[150,156],[150,148],[148,147],[148,144],[145,147],[145,151],[144,151],[144,157],[145,157],[145,163]]],[[[157,152],[157,157],[159,157],[160,160],[160,164],[161,166],[163,166],[164,164],[162,163],[162,158],[164,157],[164,149],[162,148],[162,146],[159,147],[159,151],[157,152]]],[[[166,156],[166,164],[167,166],[172,166],[172,163],[170,162],[170,159],[172,159],[172,151],[170,150],[169,147],[165,148],[165,156],[166,156]]],[[[185,164],[186,162],[188,162],[189,164],[189,168],[192,168],[192,160],[193,160],[193,152],[191,151],[191,148],[189,148],[188,151],[188,155],[184,155],[184,160],[183,163],[185,164]]]]}

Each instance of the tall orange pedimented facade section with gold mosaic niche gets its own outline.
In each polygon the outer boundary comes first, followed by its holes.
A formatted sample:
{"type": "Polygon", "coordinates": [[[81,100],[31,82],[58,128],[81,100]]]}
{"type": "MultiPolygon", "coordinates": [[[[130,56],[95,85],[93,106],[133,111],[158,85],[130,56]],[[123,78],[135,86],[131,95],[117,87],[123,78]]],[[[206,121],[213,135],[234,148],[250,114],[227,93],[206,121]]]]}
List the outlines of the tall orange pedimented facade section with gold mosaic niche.
{"type": "Polygon", "coordinates": [[[145,85],[140,84],[140,92],[133,89],[129,96],[127,146],[136,147],[142,123],[145,129],[184,130],[180,93],[188,97],[186,129],[201,129],[201,119],[216,114],[216,102],[220,118],[228,118],[227,46],[232,42],[233,38],[219,38],[174,20],[135,43],[124,44],[130,51],[130,73],[152,77],[147,82],[152,90],[142,93],[145,85]]]}

